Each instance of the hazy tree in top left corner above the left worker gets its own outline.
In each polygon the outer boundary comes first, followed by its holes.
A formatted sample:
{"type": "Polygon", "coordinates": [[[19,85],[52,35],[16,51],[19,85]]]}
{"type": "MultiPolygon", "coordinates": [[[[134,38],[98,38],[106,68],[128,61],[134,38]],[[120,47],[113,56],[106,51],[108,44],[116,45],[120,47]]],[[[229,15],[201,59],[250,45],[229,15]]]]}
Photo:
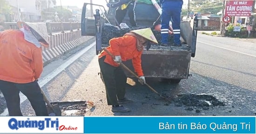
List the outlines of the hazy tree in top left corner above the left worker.
{"type": "Polygon", "coordinates": [[[12,7],[9,5],[7,0],[0,0],[0,3],[0,22],[4,21],[4,19],[6,19],[6,21],[10,21],[12,7]],[[2,15],[5,16],[5,18],[1,17],[2,15]]]}

